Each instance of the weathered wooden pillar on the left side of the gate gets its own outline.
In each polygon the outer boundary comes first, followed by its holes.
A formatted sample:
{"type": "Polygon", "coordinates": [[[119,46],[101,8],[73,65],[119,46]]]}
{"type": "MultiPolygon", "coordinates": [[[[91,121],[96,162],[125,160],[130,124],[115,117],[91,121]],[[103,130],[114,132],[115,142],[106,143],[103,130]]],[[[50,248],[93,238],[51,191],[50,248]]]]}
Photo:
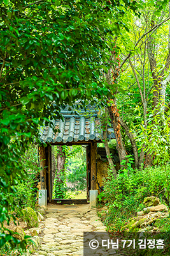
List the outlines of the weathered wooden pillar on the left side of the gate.
{"type": "Polygon", "coordinates": [[[41,167],[41,189],[46,189],[46,156],[45,147],[39,147],[39,165],[41,167]]]}

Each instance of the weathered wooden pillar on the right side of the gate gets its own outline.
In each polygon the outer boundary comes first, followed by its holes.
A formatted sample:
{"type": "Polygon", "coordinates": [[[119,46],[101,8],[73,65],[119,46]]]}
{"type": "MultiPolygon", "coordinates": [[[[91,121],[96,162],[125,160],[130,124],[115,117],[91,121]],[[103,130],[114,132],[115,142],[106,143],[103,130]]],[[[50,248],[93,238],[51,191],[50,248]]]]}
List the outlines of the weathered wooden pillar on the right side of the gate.
{"type": "Polygon", "coordinates": [[[91,190],[96,190],[96,157],[97,157],[97,143],[91,143],[90,147],[90,162],[91,162],[91,190]]]}

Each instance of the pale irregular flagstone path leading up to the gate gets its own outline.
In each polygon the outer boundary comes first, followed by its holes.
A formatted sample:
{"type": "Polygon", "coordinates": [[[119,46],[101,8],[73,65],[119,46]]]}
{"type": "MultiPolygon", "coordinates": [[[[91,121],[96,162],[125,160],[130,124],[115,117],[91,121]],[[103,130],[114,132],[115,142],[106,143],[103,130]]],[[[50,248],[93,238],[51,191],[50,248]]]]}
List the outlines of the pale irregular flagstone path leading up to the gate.
{"type": "Polygon", "coordinates": [[[89,210],[89,205],[64,206],[48,208],[45,220],[39,225],[40,246],[32,256],[83,256],[83,232],[106,232],[96,210],[89,210]]]}

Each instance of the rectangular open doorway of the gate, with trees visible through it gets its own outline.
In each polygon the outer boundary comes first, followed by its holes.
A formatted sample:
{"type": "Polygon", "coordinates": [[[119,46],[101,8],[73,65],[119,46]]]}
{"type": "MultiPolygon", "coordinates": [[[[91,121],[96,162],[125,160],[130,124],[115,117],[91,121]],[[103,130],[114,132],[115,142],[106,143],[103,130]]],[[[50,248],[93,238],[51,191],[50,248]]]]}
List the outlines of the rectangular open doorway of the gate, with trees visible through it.
{"type": "Polygon", "coordinates": [[[89,199],[87,145],[52,146],[52,200],[89,199]]]}

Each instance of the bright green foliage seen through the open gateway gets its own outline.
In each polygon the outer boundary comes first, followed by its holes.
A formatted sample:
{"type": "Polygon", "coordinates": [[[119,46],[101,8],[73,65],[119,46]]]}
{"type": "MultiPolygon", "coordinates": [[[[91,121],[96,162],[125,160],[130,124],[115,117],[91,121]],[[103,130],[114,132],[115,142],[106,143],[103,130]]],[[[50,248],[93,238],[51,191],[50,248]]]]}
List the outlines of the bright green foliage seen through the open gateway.
{"type": "MultiPolygon", "coordinates": [[[[66,161],[64,171],[56,172],[53,198],[74,198],[78,191],[81,192],[87,187],[86,147],[81,145],[62,146],[62,150],[66,161]]],[[[55,147],[55,152],[57,157],[57,147],[55,147]]]]}

